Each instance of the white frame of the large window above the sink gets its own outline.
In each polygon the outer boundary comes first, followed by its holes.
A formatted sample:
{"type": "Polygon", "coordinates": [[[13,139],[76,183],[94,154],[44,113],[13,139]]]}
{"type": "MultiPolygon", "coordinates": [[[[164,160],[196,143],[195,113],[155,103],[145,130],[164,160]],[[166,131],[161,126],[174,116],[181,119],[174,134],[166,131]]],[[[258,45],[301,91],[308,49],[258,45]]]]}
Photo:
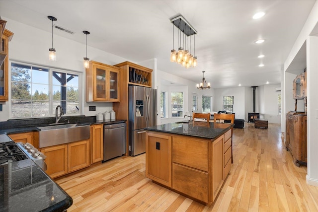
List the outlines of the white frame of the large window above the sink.
{"type": "MultiPolygon", "coordinates": [[[[17,61],[17,60],[10,60],[9,62],[9,89],[11,90],[10,94],[9,94],[9,117],[10,119],[36,119],[36,118],[49,118],[49,117],[55,117],[55,110],[53,109],[53,105],[54,105],[54,100],[53,100],[53,72],[60,72],[60,73],[65,73],[66,75],[68,74],[74,74],[78,76],[78,107],[79,107],[79,113],[67,113],[67,111],[65,111],[65,115],[66,116],[79,116],[83,114],[83,107],[82,107],[82,101],[83,101],[83,97],[82,97],[82,77],[83,77],[83,72],[80,71],[74,71],[74,70],[67,70],[67,69],[61,69],[61,68],[55,68],[55,67],[48,67],[45,65],[39,65],[39,64],[31,64],[31,63],[25,63],[25,62],[21,62],[21,61],[17,61]],[[36,67],[36,68],[43,68],[43,69],[47,69],[48,71],[48,95],[49,95],[49,115],[48,116],[32,116],[32,100],[31,101],[31,116],[29,117],[14,117],[12,118],[12,77],[11,77],[11,73],[12,73],[12,64],[18,64],[18,65],[22,65],[22,66],[28,66],[28,67],[36,67]]],[[[32,73],[31,73],[32,74],[32,73]]],[[[28,82],[31,84],[32,86],[32,75],[31,75],[31,79],[30,82],[28,82]]],[[[56,85],[55,85],[56,86],[56,85]]],[[[68,89],[68,87],[73,87],[73,86],[66,86],[66,89],[68,89]]],[[[30,95],[32,96],[32,90],[30,90],[30,95]]],[[[37,100],[33,100],[33,101],[37,101],[37,100]]],[[[64,100],[63,100],[64,101],[64,100]]],[[[67,96],[66,96],[66,104],[68,102],[67,100],[67,96]]],[[[66,109],[67,109],[67,105],[66,105],[66,109]]]]}

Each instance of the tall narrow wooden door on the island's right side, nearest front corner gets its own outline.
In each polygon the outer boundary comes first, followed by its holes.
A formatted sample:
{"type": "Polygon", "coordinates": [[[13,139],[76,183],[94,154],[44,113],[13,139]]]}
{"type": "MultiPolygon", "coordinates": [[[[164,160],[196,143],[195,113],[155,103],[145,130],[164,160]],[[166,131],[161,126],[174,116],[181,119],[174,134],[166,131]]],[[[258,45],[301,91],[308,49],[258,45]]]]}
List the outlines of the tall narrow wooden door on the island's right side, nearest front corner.
{"type": "Polygon", "coordinates": [[[224,136],[220,136],[212,142],[212,202],[217,197],[224,182],[223,145],[224,136]]]}

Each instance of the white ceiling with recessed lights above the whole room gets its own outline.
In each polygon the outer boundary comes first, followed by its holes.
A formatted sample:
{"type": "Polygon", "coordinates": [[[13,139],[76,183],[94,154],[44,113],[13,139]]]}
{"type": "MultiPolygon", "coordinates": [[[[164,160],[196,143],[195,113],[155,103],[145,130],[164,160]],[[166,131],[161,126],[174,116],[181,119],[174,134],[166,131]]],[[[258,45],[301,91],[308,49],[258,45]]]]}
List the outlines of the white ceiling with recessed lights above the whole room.
{"type": "MultiPolygon", "coordinates": [[[[280,83],[280,71],[315,0],[0,0],[0,15],[51,32],[48,15],[74,35],[54,34],[214,88],[280,83]],[[254,13],[264,11],[260,19],[254,13]],[[170,19],[182,15],[198,32],[196,68],[169,60],[170,19]],[[255,44],[257,39],[266,39],[255,44]],[[257,58],[258,55],[264,58],[257,58]],[[263,63],[264,67],[258,67],[263,63]]],[[[175,30],[176,33],[176,30],[175,30]]],[[[174,49],[177,49],[175,40],[174,49]]],[[[89,53],[87,53],[89,57],[89,53]]],[[[100,61],[102,62],[102,61],[100,61]]],[[[112,64],[110,64],[112,65],[112,64]]],[[[305,67],[300,67],[304,69],[305,67]]]]}

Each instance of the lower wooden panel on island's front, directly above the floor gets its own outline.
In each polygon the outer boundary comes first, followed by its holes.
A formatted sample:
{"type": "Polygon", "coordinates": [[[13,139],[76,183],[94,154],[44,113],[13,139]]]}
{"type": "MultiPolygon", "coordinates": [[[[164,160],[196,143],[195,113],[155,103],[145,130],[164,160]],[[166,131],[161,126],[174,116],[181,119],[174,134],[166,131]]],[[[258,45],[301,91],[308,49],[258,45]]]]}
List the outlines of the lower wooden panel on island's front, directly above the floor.
{"type": "Polygon", "coordinates": [[[172,176],[172,189],[208,203],[207,172],[173,163],[172,176]]]}

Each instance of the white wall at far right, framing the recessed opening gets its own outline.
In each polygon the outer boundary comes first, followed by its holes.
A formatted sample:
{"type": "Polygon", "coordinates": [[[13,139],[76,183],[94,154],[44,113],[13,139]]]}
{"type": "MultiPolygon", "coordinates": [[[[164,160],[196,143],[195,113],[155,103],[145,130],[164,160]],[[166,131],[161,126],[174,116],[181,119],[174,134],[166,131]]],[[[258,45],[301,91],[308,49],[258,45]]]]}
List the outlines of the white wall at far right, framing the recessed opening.
{"type": "MultiPolygon", "coordinates": [[[[306,42],[306,57],[307,57],[307,152],[308,152],[308,167],[307,167],[307,182],[310,185],[318,186],[318,120],[316,118],[316,111],[318,110],[318,41],[317,37],[309,36],[314,27],[318,24],[318,1],[310,12],[303,29],[301,30],[298,38],[295,41],[295,44],[289,53],[285,63],[284,71],[285,75],[288,73],[289,66],[295,59],[297,53],[301,49],[302,45],[306,42]]],[[[287,79],[285,77],[285,82],[287,79]]],[[[285,93],[287,93],[287,87],[285,83],[285,93]]],[[[287,95],[286,95],[287,98],[287,95]]],[[[285,101],[287,102],[287,100],[285,101]]],[[[285,111],[288,111],[287,105],[285,105],[285,111]]]]}

